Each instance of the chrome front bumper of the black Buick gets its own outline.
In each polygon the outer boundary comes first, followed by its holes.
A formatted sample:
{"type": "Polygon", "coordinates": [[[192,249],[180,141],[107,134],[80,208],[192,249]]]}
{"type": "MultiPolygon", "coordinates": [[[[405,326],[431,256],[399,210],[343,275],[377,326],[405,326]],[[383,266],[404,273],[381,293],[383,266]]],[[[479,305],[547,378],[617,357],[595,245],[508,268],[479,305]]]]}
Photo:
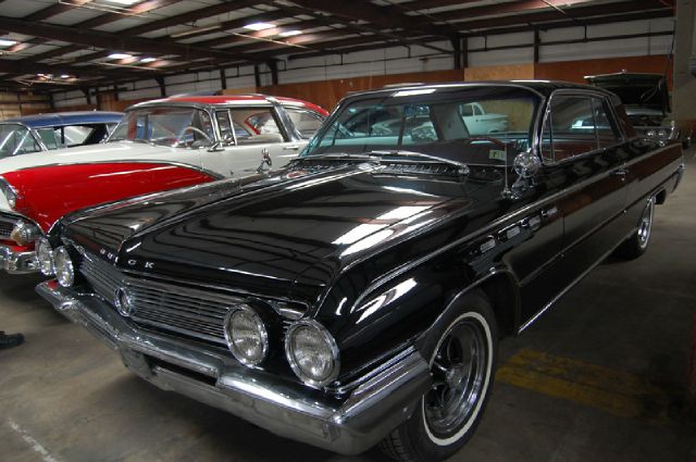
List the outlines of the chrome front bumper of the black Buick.
{"type": "Polygon", "coordinates": [[[116,350],[134,373],[220,408],[276,435],[343,454],[374,446],[403,422],[431,387],[426,361],[411,349],[336,403],[240,365],[220,350],[138,329],[94,295],[49,280],[37,292],[116,350]]]}

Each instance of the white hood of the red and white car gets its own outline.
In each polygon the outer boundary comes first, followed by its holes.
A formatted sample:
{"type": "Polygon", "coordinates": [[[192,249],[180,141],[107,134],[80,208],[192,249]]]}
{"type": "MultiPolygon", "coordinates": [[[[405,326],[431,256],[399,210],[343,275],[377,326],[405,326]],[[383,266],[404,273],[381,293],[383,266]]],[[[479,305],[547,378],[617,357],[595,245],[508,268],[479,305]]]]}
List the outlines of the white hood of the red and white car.
{"type": "Polygon", "coordinates": [[[161,161],[176,159],[174,153],[182,148],[152,146],[129,141],[78,146],[53,151],[34,152],[0,159],[0,174],[16,170],[53,164],[80,164],[92,162],[161,161]]]}

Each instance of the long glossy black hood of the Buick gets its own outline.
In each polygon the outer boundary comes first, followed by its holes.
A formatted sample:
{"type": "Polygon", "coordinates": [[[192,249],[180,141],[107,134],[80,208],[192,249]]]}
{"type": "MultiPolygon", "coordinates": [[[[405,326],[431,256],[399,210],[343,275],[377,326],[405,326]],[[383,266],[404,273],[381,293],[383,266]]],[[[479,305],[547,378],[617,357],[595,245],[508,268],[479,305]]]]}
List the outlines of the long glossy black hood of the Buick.
{"type": "Polygon", "coordinates": [[[217,182],[102,208],[75,217],[64,235],[123,270],[286,297],[293,286],[330,286],[366,255],[471,208],[465,187],[375,164],[290,167],[248,185],[217,182]]]}

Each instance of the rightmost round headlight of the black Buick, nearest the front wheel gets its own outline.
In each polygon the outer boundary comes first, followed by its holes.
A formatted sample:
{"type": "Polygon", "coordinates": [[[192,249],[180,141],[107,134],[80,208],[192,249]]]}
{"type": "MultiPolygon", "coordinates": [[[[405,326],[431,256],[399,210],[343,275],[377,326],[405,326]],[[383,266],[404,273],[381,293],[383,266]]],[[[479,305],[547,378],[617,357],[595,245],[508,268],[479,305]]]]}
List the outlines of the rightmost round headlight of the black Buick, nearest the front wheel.
{"type": "Polygon", "coordinates": [[[338,376],[338,347],[316,321],[303,320],[290,326],[285,353],[295,374],[311,387],[321,388],[338,376]]]}

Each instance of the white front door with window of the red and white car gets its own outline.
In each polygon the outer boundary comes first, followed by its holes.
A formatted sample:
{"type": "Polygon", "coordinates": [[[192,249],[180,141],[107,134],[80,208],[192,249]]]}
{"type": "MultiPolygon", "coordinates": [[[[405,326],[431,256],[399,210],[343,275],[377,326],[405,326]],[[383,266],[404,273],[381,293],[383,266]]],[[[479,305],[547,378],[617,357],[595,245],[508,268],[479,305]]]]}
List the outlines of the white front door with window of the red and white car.
{"type": "Polygon", "coordinates": [[[247,176],[262,165],[265,153],[277,168],[297,155],[297,143],[290,142],[272,105],[234,107],[215,110],[222,149],[204,155],[206,168],[224,176],[247,176]],[[294,147],[296,149],[294,149],[294,147]]]}

